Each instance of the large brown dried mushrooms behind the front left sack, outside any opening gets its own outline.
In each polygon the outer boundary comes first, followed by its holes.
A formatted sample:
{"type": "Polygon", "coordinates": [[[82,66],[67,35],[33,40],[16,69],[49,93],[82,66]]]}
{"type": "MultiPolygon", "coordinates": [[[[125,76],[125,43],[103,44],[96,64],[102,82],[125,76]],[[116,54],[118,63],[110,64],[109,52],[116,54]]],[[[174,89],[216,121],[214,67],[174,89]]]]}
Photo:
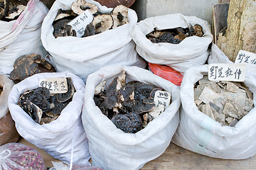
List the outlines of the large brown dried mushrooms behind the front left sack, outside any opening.
{"type": "Polygon", "coordinates": [[[54,67],[46,60],[41,60],[41,55],[23,55],[14,62],[14,69],[10,73],[10,79],[15,83],[31,77],[33,74],[43,72],[55,72],[54,67]]]}

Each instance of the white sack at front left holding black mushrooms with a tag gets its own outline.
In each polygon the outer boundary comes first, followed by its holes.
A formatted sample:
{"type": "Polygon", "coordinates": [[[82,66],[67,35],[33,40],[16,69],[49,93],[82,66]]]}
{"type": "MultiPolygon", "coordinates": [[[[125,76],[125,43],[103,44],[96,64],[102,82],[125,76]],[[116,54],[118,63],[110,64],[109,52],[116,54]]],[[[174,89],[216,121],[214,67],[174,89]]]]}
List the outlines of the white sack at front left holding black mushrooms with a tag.
{"type": "Polygon", "coordinates": [[[70,162],[73,147],[73,162],[86,164],[90,154],[80,117],[84,91],[85,84],[82,79],[69,72],[35,74],[14,85],[9,94],[8,105],[18,133],[28,142],[67,164],[70,162]],[[18,98],[24,91],[38,88],[39,79],[54,77],[71,77],[76,92],[56,120],[40,125],[17,105],[18,98]]]}

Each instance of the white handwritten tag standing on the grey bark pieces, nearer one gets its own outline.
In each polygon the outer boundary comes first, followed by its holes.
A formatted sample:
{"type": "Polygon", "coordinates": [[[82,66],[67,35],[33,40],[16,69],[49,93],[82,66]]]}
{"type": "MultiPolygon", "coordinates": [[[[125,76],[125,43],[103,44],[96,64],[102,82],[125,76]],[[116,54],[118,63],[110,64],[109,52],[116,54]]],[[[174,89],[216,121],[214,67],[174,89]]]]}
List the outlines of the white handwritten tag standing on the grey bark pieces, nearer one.
{"type": "Polygon", "coordinates": [[[210,81],[245,81],[245,64],[209,64],[210,81]]]}

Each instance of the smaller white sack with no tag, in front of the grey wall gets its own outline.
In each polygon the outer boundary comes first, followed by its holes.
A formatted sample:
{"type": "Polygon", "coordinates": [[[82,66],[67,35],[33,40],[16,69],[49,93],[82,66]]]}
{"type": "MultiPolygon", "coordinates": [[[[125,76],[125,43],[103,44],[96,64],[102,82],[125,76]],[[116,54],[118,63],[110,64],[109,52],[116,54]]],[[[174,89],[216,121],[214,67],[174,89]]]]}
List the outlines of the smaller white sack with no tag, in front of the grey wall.
{"type": "Polygon", "coordinates": [[[132,31],[132,40],[136,50],[147,62],[166,64],[178,72],[185,72],[189,67],[205,64],[208,58],[208,45],[213,40],[210,25],[207,21],[195,16],[183,16],[180,13],[146,18],[137,23],[132,31]],[[203,27],[203,37],[192,36],[185,38],[179,44],[168,42],[152,43],[146,38],[154,28],[190,28],[195,24],[203,27]]]}

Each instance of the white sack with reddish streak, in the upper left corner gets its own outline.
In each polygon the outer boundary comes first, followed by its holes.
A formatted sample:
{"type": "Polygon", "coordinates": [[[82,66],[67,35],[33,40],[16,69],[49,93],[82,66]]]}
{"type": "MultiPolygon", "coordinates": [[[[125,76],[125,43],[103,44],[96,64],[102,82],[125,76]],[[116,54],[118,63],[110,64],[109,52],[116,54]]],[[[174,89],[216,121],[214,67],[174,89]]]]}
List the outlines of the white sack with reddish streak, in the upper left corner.
{"type": "Polygon", "coordinates": [[[41,1],[31,0],[16,20],[0,21],[0,73],[9,74],[14,61],[22,55],[46,55],[41,24],[47,13],[48,8],[41,1]]]}

